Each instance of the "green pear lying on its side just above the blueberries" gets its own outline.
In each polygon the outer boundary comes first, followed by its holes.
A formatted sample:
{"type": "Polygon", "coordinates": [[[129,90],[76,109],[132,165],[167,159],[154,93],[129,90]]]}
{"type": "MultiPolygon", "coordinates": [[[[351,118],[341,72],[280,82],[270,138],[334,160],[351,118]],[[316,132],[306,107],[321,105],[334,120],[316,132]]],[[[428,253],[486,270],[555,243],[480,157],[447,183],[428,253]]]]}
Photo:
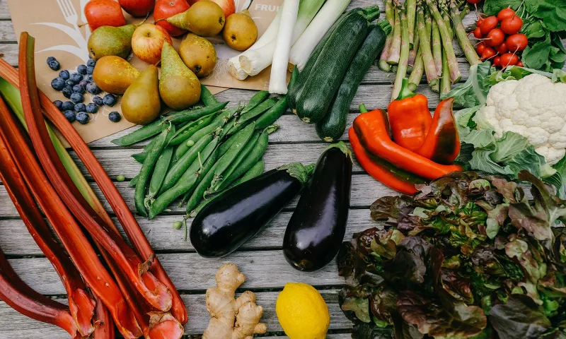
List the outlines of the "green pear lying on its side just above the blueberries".
{"type": "Polygon", "coordinates": [[[129,52],[132,51],[132,35],[134,35],[137,26],[100,26],[96,28],[91,37],[88,38],[88,53],[95,60],[108,55],[126,59],[129,52]]]}

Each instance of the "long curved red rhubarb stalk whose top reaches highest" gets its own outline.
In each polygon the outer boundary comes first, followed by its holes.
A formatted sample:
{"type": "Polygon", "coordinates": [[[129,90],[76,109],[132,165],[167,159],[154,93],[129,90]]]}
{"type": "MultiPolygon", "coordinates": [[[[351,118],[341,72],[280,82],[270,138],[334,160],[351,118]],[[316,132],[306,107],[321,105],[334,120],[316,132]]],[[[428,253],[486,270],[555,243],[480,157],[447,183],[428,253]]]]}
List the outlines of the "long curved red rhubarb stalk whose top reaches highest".
{"type": "Polygon", "coordinates": [[[71,213],[79,220],[93,238],[104,246],[132,285],[144,296],[147,302],[161,311],[171,309],[171,292],[151,272],[146,272],[153,257],[142,261],[127,245],[124,239],[108,229],[108,225],[88,205],[79,189],[76,188],[67,169],[57,155],[45,127],[41,105],[35,83],[34,39],[23,32],[20,39],[20,83],[25,121],[37,157],[45,169],[47,177],[71,213]]]}

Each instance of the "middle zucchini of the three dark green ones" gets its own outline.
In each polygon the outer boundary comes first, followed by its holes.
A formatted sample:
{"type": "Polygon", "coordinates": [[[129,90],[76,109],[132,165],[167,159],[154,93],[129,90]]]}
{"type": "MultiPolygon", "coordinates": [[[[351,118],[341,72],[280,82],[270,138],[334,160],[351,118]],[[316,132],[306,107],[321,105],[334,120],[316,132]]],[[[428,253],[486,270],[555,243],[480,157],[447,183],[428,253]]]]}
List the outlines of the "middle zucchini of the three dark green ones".
{"type": "Polygon", "coordinates": [[[352,10],[354,13],[346,16],[328,38],[296,101],[296,115],[303,121],[320,121],[328,112],[348,66],[366,38],[369,23],[379,16],[376,7],[352,10]]]}

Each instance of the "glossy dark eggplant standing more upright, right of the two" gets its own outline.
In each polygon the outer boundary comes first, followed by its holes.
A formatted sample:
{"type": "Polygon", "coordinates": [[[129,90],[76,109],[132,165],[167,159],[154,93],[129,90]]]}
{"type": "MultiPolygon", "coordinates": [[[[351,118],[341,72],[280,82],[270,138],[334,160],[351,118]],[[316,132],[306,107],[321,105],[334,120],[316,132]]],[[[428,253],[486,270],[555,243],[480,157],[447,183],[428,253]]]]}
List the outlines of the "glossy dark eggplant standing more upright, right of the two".
{"type": "Polygon", "coordinates": [[[291,266],[312,272],[333,260],[346,233],[351,187],[350,150],[342,142],[330,145],[285,230],[283,254],[291,266]]]}

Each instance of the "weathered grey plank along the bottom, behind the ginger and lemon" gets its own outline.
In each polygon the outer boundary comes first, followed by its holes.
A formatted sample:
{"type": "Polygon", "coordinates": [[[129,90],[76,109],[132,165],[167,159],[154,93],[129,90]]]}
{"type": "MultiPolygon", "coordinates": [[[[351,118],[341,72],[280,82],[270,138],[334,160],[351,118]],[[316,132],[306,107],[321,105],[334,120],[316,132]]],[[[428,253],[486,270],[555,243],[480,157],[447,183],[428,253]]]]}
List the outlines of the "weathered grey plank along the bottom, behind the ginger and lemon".
{"type": "MultiPolygon", "coordinates": [[[[320,294],[325,299],[330,312],[330,330],[351,328],[352,323],[346,319],[338,306],[337,290],[323,290],[320,294]]],[[[278,292],[258,292],[258,304],[264,309],[262,322],[267,324],[268,332],[283,331],[277,321],[277,314],[275,314],[275,302],[277,300],[278,292]]],[[[201,334],[208,326],[210,316],[204,305],[204,295],[183,295],[183,301],[189,310],[189,321],[185,324],[186,335],[201,334]]],[[[58,299],[59,302],[66,302],[64,299],[58,299]]],[[[4,302],[0,302],[0,317],[2,323],[10,324],[8,326],[0,326],[0,338],[11,339],[28,339],[34,338],[37,333],[45,333],[42,339],[60,339],[68,338],[69,335],[60,330],[59,328],[33,321],[15,310],[11,309],[4,302]]],[[[286,338],[286,337],[270,337],[270,338],[286,338]]],[[[328,335],[329,339],[345,339],[350,338],[348,334],[328,335]]]]}

